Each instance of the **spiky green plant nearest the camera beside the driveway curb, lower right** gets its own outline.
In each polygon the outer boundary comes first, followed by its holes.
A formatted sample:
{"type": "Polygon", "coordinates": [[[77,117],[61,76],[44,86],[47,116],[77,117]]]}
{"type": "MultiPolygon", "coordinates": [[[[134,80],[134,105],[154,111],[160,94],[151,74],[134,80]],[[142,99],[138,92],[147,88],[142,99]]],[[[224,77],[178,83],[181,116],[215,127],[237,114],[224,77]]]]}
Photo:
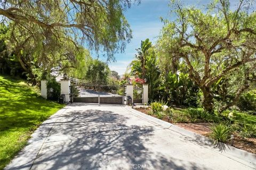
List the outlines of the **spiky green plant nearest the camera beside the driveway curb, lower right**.
{"type": "Polygon", "coordinates": [[[230,136],[229,127],[223,124],[215,124],[211,127],[212,133],[210,137],[214,139],[214,145],[218,145],[219,142],[227,142],[230,136]]]}

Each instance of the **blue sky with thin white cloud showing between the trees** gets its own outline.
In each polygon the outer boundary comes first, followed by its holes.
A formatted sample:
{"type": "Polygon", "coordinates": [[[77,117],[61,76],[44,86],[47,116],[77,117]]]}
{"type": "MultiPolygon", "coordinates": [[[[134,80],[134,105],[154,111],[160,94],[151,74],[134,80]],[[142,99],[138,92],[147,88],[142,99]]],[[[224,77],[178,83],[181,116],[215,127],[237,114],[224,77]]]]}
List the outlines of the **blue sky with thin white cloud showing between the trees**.
{"type": "MultiPolygon", "coordinates": [[[[230,0],[234,3],[238,0],[230,0]]],[[[133,31],[133,39],[127,44],[126,50],[122,54],[115,54],[116,62],[109,63],[110,70],[115,70],[119,74],[124,74],[127,65],[131,63],[136,54],[135,48],[140,47],[141,40],[149,38],[153,44],[157,40],[157,36],[163,27],[160,17],[172,19],[169,5],[170,0],[141,0],[141,4],[133,4],[124,14],[131,25],[133,31]]],[[[203,7],[210,0],[185,0],[183,4],[196,5],[203,7]]],[[[234,6],[234,4],[231,4],[234,6]]],[[[100,60],[106,61],[106,58],[100,57],[100,60]]]]}

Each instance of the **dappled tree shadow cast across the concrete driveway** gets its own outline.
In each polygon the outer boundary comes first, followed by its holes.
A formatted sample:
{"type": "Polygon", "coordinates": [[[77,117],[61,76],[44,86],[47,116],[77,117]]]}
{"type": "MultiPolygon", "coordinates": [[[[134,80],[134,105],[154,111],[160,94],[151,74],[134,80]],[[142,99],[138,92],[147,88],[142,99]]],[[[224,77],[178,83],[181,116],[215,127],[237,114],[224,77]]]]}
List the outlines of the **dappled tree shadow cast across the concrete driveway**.
{"type": "Polygon", "coordinates": [[[44,123],[52,128],[31,169],[198,169],[145,147],[154,125],[126,125],[128,116],[98,109],[65,112],[57,118],[44,123]]]}

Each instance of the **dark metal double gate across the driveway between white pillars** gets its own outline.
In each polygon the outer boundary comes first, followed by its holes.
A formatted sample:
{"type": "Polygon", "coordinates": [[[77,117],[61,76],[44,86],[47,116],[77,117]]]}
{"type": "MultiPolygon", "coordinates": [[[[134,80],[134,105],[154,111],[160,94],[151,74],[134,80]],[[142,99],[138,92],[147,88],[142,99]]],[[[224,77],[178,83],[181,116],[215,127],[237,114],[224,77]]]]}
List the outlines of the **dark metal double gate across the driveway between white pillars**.
{"type": "Polygon", "coordinates": [[[71,82],[70,99],[72,103],[124,105],[124,92],[125,86],[71,82]]]}

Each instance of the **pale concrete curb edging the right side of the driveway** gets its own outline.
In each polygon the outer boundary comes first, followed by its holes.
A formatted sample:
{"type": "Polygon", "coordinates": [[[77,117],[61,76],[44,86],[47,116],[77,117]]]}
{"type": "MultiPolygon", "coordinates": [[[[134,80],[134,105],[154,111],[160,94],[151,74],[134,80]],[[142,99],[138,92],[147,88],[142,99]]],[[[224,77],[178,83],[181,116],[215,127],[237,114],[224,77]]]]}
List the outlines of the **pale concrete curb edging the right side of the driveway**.
{"type": "Polygon", "coordinates": [[[233,146],[226,145],[226,144],[225,144],[225,147],[226,147],[225,151],[219,151],[218,149],[213,148],[213,141],[211,139],[209,139],[201,134],[197,134],[195,132],[188,131],[188,130],[183,129],[177,125],[159,120],[156,117],[149,116],[145,113],[136,111],[135,109],[132,109],[131,106],[125,106],[124,108],[127,109],[128,111],[130,111],[131,113],[136,114],[137,116],[139,116],[141,118],[145,118],[151,122],[155,122],[155,123],[163,126],[166,129],[173,130],[178,133],[182,133],[183,135],[187,135],[188,137],[190,137],[198,142],[201,142],[204,145],[210,146],[215,152],[218,152],[219,154],[226,155],[227,157],[233,156],[233,157],[237,158],[236,161],[238,161],[242,164],[245,164],[247,166],[250,166],[251,168],[256,169],[256,155],[255,154],[252,154],[245,150],[238,149],[233,146]]]}

